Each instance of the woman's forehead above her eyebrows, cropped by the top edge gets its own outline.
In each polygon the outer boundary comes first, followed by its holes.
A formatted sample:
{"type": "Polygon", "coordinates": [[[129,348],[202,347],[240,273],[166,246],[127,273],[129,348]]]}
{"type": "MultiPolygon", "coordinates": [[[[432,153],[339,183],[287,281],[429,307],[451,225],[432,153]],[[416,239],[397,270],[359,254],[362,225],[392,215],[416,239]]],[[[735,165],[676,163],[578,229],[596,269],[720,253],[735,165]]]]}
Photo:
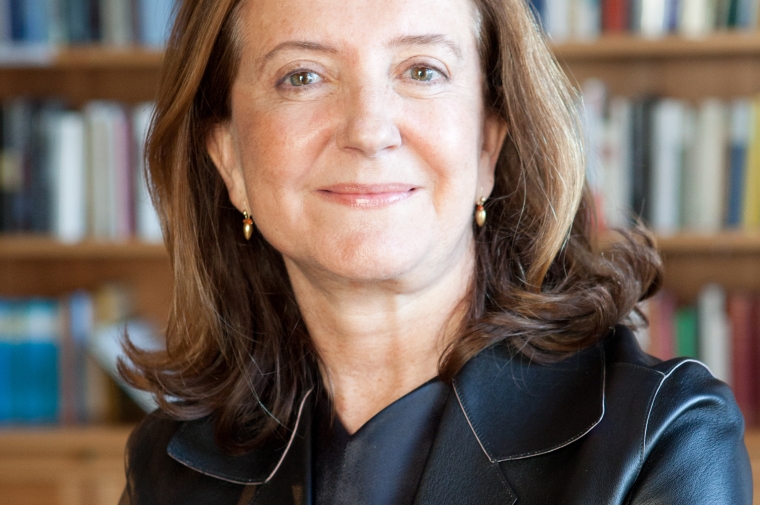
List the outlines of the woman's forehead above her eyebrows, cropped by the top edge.
{"type": "Polygon", "coordinates": [[[465,49],[476,40],[472,0],[244,0],[239,18],[244,45],[256,52],[288,39],[341,47],[441,34],[465,49]]]}

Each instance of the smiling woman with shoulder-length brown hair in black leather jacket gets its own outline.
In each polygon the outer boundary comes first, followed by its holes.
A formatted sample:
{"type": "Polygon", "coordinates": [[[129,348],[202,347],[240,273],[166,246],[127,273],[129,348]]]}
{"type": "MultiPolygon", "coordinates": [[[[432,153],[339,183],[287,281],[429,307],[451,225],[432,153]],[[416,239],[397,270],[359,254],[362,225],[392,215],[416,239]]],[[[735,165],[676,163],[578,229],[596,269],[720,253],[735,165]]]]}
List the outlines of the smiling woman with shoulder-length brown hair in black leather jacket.
{"type": "Polygon", "coordinates": [[[620,324],[659,260],[593,254],[574,100],[523,0],[181,2],[123,503],[750,503],[728,388],[620,324]]]}

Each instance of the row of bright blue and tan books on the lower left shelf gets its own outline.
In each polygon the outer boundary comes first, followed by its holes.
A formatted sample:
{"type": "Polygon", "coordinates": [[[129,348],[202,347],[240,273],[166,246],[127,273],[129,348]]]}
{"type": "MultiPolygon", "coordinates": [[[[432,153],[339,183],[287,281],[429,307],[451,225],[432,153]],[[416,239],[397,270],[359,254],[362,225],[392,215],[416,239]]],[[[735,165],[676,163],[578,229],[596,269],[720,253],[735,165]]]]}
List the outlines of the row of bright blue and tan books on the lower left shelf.
{"type": "MultiPolygon", "coordinates": [[[[0,426],[118,420],[116,359],[130,310],[121,287],[56,299],[0,298],[0,426]]],[[[145,322],[129,326],[155,345],[145,322]]],[[[152,399],[128,390],[145,410],[152,399]]]]}

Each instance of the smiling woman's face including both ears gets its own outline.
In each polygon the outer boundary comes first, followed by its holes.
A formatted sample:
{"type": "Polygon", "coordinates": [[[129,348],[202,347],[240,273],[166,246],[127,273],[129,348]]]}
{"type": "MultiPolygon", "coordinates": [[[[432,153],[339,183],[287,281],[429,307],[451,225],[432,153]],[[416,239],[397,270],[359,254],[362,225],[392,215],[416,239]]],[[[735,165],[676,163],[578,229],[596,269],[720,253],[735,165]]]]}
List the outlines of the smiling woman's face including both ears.
{"type": "Polygon", "coordinates": [[[472,254],[505,128],[484,111],[471,0],[248,0],[239,21],[232,117],[208,149],[288,268],[434,278],[472,254]]]}

